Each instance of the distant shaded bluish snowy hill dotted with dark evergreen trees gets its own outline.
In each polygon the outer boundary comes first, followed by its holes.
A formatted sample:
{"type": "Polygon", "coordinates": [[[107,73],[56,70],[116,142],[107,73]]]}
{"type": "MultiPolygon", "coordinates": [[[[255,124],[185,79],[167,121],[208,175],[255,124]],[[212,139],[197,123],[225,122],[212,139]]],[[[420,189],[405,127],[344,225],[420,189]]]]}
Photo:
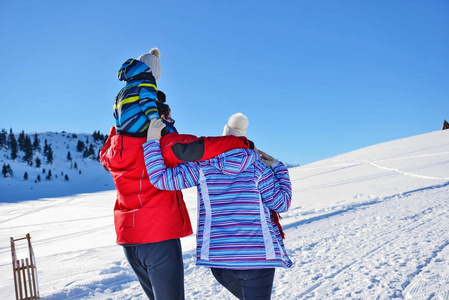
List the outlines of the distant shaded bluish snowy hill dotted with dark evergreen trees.
{"type": "MultiPolygon", "coordinates": [[[[20,134],[14,136],[16,140],[20,139],[20,134]]],[[[9,166],[13,173],[6,177],[0,174],[0,202],[62,197],[114,188],[111,176],[95,158],[104,143],[104,137],[95,136],[94,139],[92,134],[65,132],[31,133],[25,136],[32,141],[36,136],[40,146],[39,150],[33,151],[31,165],[24,161],[24,151],[19,149],[17,158],[12,160],[11,147],[0,147],[0,167],[9,166]],[[45,144],[52,149],[52,162],[48,162],[44,154],[45,144]],[[40,166],[36,159],[40,161],[40,166]],[[24,179],[25,173],[27,179],[24,179]]]]}

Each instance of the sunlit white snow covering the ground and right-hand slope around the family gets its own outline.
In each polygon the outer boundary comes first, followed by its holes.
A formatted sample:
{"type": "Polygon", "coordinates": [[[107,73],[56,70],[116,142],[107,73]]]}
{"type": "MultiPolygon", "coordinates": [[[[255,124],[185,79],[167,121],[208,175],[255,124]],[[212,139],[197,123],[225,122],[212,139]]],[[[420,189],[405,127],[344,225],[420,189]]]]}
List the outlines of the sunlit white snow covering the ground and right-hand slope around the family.
{"type": "MultiPolygon", "coordinates": [[[[449,299],[448,154],[446,130],[290,169],[281,223],[295,265],[276,270],[272,298],[449,299]]],[[[196,224],[196,190],[183,193],[196,224]]],[[[0,299],[14,298],[9,238],[27,233],[42,299],[145,299],[115,244],[114,197],[0,203],[0,299]]],[[[194,235],[182,244],[186,299],[232,299],[195,266],[194,235]]]]}

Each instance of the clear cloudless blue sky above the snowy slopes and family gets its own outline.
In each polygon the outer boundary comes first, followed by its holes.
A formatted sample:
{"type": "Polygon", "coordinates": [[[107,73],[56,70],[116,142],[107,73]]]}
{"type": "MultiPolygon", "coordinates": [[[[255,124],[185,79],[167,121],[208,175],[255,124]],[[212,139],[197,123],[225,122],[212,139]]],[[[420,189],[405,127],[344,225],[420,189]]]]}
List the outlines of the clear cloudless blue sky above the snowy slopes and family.
{"type": "Polygon", "coordinates": [[[447,0],[0,0],[0,128],[107,133],[117,70],[152,47],[180,132],[242,112],[284,162],[449,120],[447,0]]]}

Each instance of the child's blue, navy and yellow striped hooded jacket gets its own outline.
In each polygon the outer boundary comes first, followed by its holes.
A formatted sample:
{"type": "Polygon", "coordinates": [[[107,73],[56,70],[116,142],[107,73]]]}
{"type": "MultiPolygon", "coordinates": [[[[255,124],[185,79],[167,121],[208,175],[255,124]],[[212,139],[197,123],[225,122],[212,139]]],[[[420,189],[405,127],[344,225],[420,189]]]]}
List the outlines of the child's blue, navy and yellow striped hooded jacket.
{"type": "Polygon", "coordinates": [[[135,59],[128,59],[118,71],[118,79],[126,85],[114,103],[117,134],[146,137],[150,120],[159,118],[157,86],[150,68],[135,59]]]}

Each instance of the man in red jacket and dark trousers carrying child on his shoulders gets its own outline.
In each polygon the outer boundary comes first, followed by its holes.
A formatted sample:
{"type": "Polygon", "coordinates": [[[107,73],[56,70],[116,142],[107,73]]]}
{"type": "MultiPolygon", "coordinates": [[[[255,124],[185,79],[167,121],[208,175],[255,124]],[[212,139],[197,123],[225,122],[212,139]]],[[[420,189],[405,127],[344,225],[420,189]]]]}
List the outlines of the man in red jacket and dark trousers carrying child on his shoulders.
{"type": "MultiPolygon", "coordinates": [[[[170,108],[158,103],[159,115],[173,126],[170,108]]],[[[146,138],[117,135],[111,128],[100,151],[117,189],[114,223],[117,243],[149,299],[184,299],[184,266],[180,238],[192,234],[181,191],[153,187],[145,168],[146,138]]],[[[245,137],[196,137],[165,134],[160,145],[167,167],[183,161],[206,160],[235,148],[254,148],[245,137]]]]}

